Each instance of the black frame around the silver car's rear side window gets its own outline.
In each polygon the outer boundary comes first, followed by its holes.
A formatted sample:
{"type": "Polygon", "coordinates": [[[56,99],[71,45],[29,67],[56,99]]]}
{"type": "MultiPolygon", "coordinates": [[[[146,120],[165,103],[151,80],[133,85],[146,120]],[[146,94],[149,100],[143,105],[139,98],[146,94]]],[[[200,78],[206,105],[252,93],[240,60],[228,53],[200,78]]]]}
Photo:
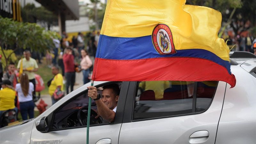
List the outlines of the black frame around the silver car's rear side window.
{"type": "Polygon", "coordinates": [[[219,85],[219,81],[217,81],[215,91],[213,92],[212,100],[209,103],[208,107],[204,111],[196,112],[196,92],[197,92],[198,82],[195,82],[194,83],[194,91],[193,91],[192,113],[173,115],[173,116],[160,116],[160,117],[144,118],[144,119],[134,120],[133,116],[134,116],[135,97],[136,97],[137,92],[138,92],[137,88],[139,86],[139,82],[133,82],[133,83],[130,84],[130,87],[129,87],[129,90],[128,90],[128,93],[127,93],[127,95],[130,95],[130,96],[129,97],[127,96],[125,110],[124,110],[124,121],[123,121],[123,123],[154,120],[154,119],[177,117],[177,116],[188,116],[188,115],[196,115],[196,114],[204,113],[205,111],[207,111],[210,108],[210,106],[212,104],[212,101],[214,100],[218,85],[219,85]],[[133,95],[133,96],[131,96],[131,95],[133,95]]]}

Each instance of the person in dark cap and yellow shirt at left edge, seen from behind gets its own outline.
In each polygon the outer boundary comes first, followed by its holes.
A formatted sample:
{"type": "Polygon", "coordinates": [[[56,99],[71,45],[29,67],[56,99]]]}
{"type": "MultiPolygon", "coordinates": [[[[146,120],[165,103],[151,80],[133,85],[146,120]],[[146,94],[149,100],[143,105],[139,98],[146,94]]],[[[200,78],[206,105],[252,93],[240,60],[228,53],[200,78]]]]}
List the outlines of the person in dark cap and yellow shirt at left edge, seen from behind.
{"type": "Polygon", "coordinates": [[[4,111],[9,109],[15,109],[16,113],[18,113],[18,108],[14,105],[16,92],[11,86],[11,81],[8,79],[3,80],[1,86],[3,89],[0,90],[0,118],[4,111]]]}

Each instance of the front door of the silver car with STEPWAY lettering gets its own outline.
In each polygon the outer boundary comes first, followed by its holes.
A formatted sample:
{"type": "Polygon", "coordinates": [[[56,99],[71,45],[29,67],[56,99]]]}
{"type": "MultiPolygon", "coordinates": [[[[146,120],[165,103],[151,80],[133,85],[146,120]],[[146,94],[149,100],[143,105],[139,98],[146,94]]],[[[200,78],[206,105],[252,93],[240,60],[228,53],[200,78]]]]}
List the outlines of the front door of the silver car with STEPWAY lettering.
{"type": "MultiPolygon", "coordinates": [[[[103,86],[104,84],[99,84],[96,87],[103,86]]],[[[116,117],[113,123],[105,124],[93,124],[90,125],[89,133],[89,143],[118,143],[118,135],[121,128],[121,123],[123,119],[124,102],[127,94],[129,82],[122,83],[122,88],[120,92],[120,98],[118,101],[116,109],[116,117]]],[[[86,86],[83,86],[86,89],[86,86]]],[[[79,88],[78,90],[83,90],[79,88]]],[[[98,91],[99,92],[99,91],[98,91]]],[[[39,132],[36,129],[36,124],[33,125],[31,141],[32,144],[51,144],[51,143],[86,143],[86,125],[77,126],[76,121],[71,120],[71,116],[74,114],[74,109],[79,108],[81,105],[85,106],[83,101],[88,98],[87,90],[84,92],[78,91],[75,96],[69,96],[70,99],[67,102],[63,101],[62,104],[57,102],[58,105],[53,105],[50,109],[53,111],[48,115],[49,120],[49,132],[39,132]],[[70,113],[70,114],[69,114],[70,113]],[[67,115],[67,116],[66,116],[67,115]],[[62,118],[63,117],[63,118],[62,118]],[[64,119],[68,117],[67,123],[64,119]],[[63,120],[62,120],[63,119],[63,120]],[[63,123],[63,124],[59,124],[63,123]],[[75,126],[72,126],[72,124],[75,126]]],[[[72,93],[71,93],[72,94],[72,93]]],[[[65,98],[65,97],[64,97],[65,98]]],[[[88,103],[88,102],[87,102],[88,103]]],[[[92,108],[93,108],[92,104],[92,108]]],[[[92,113],[92,112],[91,112],[92,113]]],[[[43,116],[39,116],[40,118],[43,116]]],[[[39,118],[36,121],[40,120],[39,118]]]]}

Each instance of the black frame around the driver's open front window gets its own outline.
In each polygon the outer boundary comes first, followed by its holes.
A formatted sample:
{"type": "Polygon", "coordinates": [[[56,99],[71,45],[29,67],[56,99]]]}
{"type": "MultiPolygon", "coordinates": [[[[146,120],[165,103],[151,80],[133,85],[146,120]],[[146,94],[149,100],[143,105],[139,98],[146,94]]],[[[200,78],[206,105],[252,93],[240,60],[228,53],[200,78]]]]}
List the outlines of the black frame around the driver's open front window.
{"type": "MultiPolygon", "coordinates": [[[[113,84],[113,83],[116,83],[116,82],[106,82],[106,83],[103,83],[103,84],[98,84],[98,85],[95,85],[96,88],[99,88],[99,87],[102,87],[104,85],[107,85],[107,84],[113,84]]],[[[128,87],[129,87],[129,83],[127,84],[127,82],[122,82],[122,87],[120,89],[120,95],[124,95],[125,93],[127,94],[127,90],[128,90],[128,87]]],[[[60,129],[52,129],[52,125],[54,123],[54,118],[55,118],[55,113],[57,111],[59,111],[61,108],[63,108],[64,106],[66,106],[69,102],[71,102],[72,100],[75,100],[77,97],[83,95],[84,93],[88,92],[88,89],[84,90],[84,91],[81,91],[79,92],[78,94],[76,94],[75,96],[73,96],[72,98],[70,98],[69,100],[65,101],[64,103],[62,103],[58,108],[56,108],[54,111],[52,111],[48,116],[48,126],[49,126],[49,131],[48,132],[54,132],[54,131],[61,131],[61,130],[70,130],[70,129],[77,129],[77,128],[86,128],[87,125],[83,125],[83,126],[76,126],[76,127],[67,127],[67,128],[60,128],[60,129]]],[[[125,104],[125,100],[126,100],[126,94],[125,94],[125,98],[121,98],[120,100],[120,97],[119,97],[119,100],[118,100],[118,105],[119,107],[117,107],[116,109],[116,116],[115,116],[115,121],[112,122],[112,123],[104,123],[104,124],[93,124],[93,125],[90,125],[90,127],[92,126],[101,126],[101,125],[108,125],[108,124],[120,124],[122,123],[122,120],[123,120],[123,117],[121,117],[123,115],[123,111],[124,111],[124,107],[122,107],[122,105],[125,104]],[[119,104],[120,103],[120,104],[119,104]],[[122,104],[124,103],[124,104],[122,104]]]]}

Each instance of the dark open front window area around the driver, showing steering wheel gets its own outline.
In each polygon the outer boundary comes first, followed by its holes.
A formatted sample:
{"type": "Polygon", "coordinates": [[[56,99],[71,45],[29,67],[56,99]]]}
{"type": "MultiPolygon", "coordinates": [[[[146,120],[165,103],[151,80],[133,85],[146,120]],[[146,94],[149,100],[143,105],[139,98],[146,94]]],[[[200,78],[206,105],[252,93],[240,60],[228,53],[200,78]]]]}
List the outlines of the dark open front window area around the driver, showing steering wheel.
{"type": "MultiPolygon", "coordinates": [[[[120,89],[122,82],[115,82],[119,85],[120,89]]],[[[110,83],[108,83],[110,84],[110,83]]],[[[105,84],[107,85],[107,84],[105,84]]],[[[102,94],[104,85],[97,87],[98,93],[102,94]]],[[[53,113],[53,124],[52,129],[68,129],[73,127],[86,126],[87,124],[87,112],[88,112],[88,102],[89,97],[87,91],[84,91],[76,95],[73,99],[66,102],[64,105],[60,106],[53,113]]],[[[90,125],[106,124],[107,121],[103,120],[101,117],[95,118],[97,116],[97,105],[94,100],[92,100],[91,106],[91,118],[90,125]]]]}

